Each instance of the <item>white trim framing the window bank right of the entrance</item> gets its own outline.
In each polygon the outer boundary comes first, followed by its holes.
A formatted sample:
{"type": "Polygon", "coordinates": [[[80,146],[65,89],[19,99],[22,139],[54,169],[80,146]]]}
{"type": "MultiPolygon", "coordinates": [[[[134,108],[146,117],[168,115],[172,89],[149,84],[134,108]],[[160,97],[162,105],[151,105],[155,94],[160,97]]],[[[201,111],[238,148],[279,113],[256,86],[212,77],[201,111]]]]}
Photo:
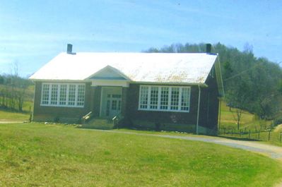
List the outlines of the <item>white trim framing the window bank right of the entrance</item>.
{"type": "Polygon", "coordinates": [[[141,111],[173,111],[173,112],[186,112],[188,113],[190,111],[190,99],[191,99],[191,87],[189,86],[168,86],[168,85],[140,85],[139,86],[139,104],[138,104],[138,109],[141,111]],[[151,105],[151,87],[158,87],[158,107],[157,109],[151,109],[150,105],[151,105]],[[147,107],[146,109],[141,109],[140,107],[140,102],[141,102],[141,88],[147,87],[148,88],[148,99],[147,99],[147,107]],[[168,109],[160,109],[160,91],[161,88],[168,88],[168,109]],[[170,109],[171,107],[171,92],[172,92],[172,88],[179,88],[179,98],[178,98],[178,109],[177,110],[173,110],[170,109]],[[189,110],[182,110],[182,88],[189,88],[189,110]]]}

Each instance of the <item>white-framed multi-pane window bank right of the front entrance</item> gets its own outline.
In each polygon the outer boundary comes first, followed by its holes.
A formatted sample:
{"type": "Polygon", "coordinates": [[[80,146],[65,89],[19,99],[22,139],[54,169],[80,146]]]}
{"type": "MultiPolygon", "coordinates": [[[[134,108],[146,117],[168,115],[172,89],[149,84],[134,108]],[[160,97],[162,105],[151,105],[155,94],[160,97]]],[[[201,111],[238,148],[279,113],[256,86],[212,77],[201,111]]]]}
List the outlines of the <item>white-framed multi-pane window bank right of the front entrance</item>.
{"type": "Polygon", "coordinates": [[[188,86],[140,85],[139,110],[189,112],[188,86]]]}

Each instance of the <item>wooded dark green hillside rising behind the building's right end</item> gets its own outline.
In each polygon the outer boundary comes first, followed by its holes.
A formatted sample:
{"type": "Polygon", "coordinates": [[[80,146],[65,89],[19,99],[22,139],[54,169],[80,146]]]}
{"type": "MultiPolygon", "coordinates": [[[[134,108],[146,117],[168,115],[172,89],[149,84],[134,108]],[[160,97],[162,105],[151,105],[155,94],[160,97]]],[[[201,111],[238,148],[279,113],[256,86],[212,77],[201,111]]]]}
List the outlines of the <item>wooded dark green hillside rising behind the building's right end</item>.
{"type": "MultiPolygon", "coordinates": [[[[171,44],[144,52],[206,52],[206,44],[171,44]]],[[[225,101],[231,106],[256,114],[259,119],[282,118],[282,68],[264,57],[256,57],[246,45],[235,47],[213,44],[221,63],[225,101]]]]}

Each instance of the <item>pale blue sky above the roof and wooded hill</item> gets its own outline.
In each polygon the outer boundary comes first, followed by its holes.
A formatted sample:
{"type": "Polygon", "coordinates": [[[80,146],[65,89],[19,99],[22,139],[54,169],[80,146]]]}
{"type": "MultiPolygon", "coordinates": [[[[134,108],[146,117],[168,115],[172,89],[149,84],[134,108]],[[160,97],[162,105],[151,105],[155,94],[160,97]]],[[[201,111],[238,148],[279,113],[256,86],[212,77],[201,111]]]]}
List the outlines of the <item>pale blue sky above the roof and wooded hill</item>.
{"type": "Polygon", "coordinates": [[[28,76],[74,44],[74,52],[141,52],[209,42],[282,61],[282,1],[0,2],[0,73],[28,76]]]}

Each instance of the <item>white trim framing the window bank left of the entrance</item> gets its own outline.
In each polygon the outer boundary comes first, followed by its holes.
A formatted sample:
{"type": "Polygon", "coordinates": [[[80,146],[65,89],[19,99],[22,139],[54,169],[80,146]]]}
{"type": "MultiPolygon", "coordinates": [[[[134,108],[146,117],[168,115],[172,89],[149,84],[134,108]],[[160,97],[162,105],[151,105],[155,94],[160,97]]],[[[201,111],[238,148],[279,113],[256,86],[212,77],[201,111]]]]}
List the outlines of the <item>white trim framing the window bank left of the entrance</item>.
{"type": "MultiPolygon", "coordinates": [[[[77,99],[78,99],[78,85],[84,85],[84,89],[86,89],[86,84],[84,83],[42,83],[41,85],[41,98],[40,98],[40,106],[42,107],[76,107],[76,108],[83,108],[85,104],[85,99],[84,99],[84,104],[83,105],[77,105],[77,99]],[[43,97],[43,87],[44,85],[49,85],[49,90],[48,90],[48,104],[42,104],[42,97],[43,97]],[[52,85],[57,85],[57,104],[51,104],[51,97],[52,97],[52,85]],[[61,85],[66,85],[66,104],[59,104],[59,98],[61,97],[60,95],[60,90],[61,90],[61,85]],[[75,102],[74,105],[69,104],[69,85],[76,85],[76,93],[75,93],[75,102]]],[[[86,95],[86,90],[84,90],[84,97],[86,95]]]]}

